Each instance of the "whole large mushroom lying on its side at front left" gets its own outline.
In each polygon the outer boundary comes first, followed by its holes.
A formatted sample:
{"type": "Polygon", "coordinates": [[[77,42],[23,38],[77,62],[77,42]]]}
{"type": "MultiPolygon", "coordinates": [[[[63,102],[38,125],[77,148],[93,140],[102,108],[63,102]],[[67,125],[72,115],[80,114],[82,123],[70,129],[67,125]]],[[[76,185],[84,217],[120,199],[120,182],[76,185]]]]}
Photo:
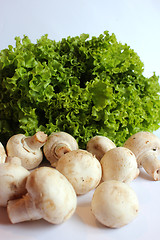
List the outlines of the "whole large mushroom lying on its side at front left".
{"type": "Polygon", "coordinates": [[[27,178],[28,193],[10,200],[7,212],[12,223],[45,219],[60,224],[75,212],[77,197],[72,185],[56,169],[39,167],[27,178]]]}

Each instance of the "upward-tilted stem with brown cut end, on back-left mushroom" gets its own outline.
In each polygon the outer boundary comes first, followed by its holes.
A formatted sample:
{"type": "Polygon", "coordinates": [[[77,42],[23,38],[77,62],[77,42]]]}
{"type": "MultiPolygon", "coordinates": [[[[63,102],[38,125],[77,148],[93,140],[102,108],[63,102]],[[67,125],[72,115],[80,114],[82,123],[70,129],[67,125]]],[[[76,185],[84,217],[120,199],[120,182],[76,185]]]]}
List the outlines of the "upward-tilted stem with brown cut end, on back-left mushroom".
{"type": "Polygon", "coordinates": [[[23,139],[23,144],[25,148],[29,147],[34,150],[34,149],[41,148],[46,141],[47,141],[47,134],[39,131],[35,133],[33,136],[25,137],[23,139]]]}

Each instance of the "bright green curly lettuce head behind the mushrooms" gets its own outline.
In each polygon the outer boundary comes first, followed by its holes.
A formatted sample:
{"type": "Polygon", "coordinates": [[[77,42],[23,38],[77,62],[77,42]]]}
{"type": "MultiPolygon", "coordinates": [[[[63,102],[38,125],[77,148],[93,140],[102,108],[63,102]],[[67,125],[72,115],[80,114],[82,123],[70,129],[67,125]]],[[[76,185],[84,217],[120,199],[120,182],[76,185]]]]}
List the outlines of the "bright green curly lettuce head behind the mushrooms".
{"type": "Polygon", "coordinates": [[[23,132],[66,131],[84,148],[94,135],[118,146],[160,122],[158,77],[107,31],[59,42],[47,35],[0,52],[0,141],[23,132]]]}

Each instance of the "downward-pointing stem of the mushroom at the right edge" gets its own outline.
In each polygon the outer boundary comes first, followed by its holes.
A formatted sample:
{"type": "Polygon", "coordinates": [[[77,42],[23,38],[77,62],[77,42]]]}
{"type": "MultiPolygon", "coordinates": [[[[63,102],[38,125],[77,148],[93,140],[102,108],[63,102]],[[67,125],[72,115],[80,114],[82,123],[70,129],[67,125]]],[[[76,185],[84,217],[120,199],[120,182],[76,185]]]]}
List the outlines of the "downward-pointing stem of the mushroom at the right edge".
{"type": "Polygon", "coordinates": [[[155,181],[160,180],[160,161],[157,152],[153,150],[144,152],[139,156],[138,161],[155,181]]]}

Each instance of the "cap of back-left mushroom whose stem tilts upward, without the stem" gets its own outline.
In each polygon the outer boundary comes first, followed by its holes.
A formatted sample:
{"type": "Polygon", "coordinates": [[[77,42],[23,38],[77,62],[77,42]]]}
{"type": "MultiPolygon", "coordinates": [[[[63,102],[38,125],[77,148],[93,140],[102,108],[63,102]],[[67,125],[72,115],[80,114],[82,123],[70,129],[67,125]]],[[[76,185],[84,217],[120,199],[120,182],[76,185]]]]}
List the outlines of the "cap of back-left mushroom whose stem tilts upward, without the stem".
{"type": "Polygon", "coordinates": [[[6,145],[7,155],[19,157],[24,168],[33,169],[42,162],[43,153],[41,149],[28,149],[25,138],[26,136],[23,134],[12,136],[6,145]]]}

